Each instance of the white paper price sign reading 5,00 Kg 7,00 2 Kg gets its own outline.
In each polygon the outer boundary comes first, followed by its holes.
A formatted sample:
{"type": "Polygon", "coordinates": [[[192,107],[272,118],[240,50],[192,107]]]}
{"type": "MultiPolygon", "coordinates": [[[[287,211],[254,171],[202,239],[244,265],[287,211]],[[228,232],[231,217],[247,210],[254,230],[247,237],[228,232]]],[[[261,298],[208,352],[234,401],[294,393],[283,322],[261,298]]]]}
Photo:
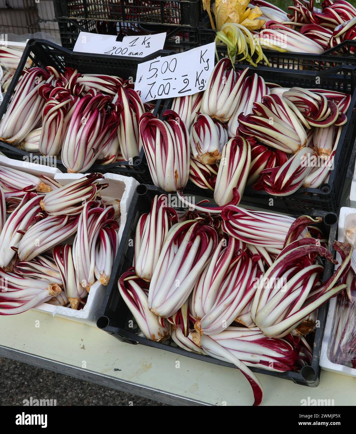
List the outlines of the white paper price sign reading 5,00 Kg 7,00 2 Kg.
{"type": "Polygon", "coordinates": [[[214,69],[215,43],[139,63],[135,90],[143,102],[205,90],[214,69]]]}

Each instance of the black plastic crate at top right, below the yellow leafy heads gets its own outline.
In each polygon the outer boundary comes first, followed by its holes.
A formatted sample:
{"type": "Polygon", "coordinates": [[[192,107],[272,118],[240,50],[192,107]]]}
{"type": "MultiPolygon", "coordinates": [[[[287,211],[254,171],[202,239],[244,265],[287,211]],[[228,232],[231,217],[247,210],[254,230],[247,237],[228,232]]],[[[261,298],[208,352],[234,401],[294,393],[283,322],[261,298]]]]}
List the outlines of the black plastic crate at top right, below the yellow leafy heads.
{"type": "MultiPolygon", "coordinates": [[[[209,24],[198,28],[199,44],[205,45],[214,42],[216,31],[208,28],[209,24]]],[[[302,69],[304,71],[322,71],[324,69],[333,68],[336,66],[351,65],[356,66],[356,53],[350,53],[351,47],[356,47],[356,41],[343,41],[334,48],[330,48],[322,54],[310,53],[279,53],[264,49],[263,53],[269,60],[270,66],[282,69],[302,69]],[[346,47],[347,53],[343,53],[342,49],[346,47]],[[338,53],[338,54],[333,54],[338,53]]],[[[225,45],[217,46],[219,58],[227,57],[227,47],[225,45]]],[[[252,56],[256,60],[256,55],[252,56]]],[[[258,67],[263,66],[263,60],[258,64],[258,67]]],[[[246,60],[239,62],[246,65],[246,60]]]]}

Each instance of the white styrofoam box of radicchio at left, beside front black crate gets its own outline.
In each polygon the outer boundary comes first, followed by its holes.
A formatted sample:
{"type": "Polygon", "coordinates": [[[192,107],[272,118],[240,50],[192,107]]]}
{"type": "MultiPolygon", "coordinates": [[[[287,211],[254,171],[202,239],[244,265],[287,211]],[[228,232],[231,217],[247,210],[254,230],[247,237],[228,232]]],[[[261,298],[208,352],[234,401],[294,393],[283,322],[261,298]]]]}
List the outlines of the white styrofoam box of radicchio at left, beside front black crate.
{"type": "MultiPolygon", "coordinates": [[[[60,184],[69,184],[75,179],[82,178],[83,174],[78,173],[57,173],[55,175],[55,181],[60,184]]],[[[123,230],[126,224],[126,217],[129,211],[129,206],[133,198],[133,194],[139,183],[134,178],[129,178],[122,175],[113,173],[105,173],[105,179],[102,182],[109,183],[109,187],[103,190],[105,196],[112,196],[120,199],[120,229],[119,229],[119,242],[123,234],[123,230]]],[[[75,310],[70,307],[53,306],[52,304],[42,303],[41,305],[33,308],[39,312],[49,313],[53,316],[60,316],[61,318],[71,319],[72,321],[84,322],[88,325],[96,326],[97,318],[99,316],[99,309],[101,302],[103,301],[105,286],[100,282],[94,283],[91,287],[87,302],[83,309],[75,310]]]]}

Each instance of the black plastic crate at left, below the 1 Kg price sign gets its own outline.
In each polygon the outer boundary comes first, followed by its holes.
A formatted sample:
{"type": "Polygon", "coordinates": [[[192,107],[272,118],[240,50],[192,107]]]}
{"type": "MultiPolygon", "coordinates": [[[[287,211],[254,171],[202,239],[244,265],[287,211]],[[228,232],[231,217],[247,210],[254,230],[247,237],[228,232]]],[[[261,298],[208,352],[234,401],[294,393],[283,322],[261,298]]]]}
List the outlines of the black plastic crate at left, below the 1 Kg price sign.
{"type": "MultiPolygon", "coordinates": [[[[128,79],[132,77],[136,79],[137,65],[139,62],[146,62],[149,59],[153,59],[156,56],[166,56],[171,54],[167,50],[161,50],[145,58],[132,58],[126,56],[105,56],[102,54],[85,54],[85,53],[73,53],[68,49],[44,41],[42,39],[30,39],[24,50],[19,66],[13,77],[13,80],[7,90],[3,103],[0,106],[0,119],[6,112],[7,106],[10,102],[10,98],[13,95],[15,86],[19,80],[21,72],[25,66],[26,60],[29,58],[32,60],[32,66],[54,66],[63,72],[65,66],[78,69],[79,72],[96,73],[96,74],[108,74],[119,75],[128,79]]],[[[155,114],[159,110],[160,101],[157,101],[155,106],[155,114]]],[[[24,157],[30,158],[30,153],[16,148],[13,145],[9,145],[3,141],[0,141],[0,151],[2,151],[7,157],[17,160],[23,160],[24,157]]],[[[33,154],[39,155],[39,154],[33,154]]],[[[67,171],[65,166],[61,163],[60,158],[56,159],[57,167],[61,171],[67,171]]],[[[133,176],[139,182],[151,183],[152,179],[149,174],[149,169],[146,162],[143,149],[138,157],[133,158],[133,161],[120,161],[112,164],[94,164],[88,169],[89,172],[106,173],[108,171],[112,173],[118,173],[125,176],[133,176]]]]}

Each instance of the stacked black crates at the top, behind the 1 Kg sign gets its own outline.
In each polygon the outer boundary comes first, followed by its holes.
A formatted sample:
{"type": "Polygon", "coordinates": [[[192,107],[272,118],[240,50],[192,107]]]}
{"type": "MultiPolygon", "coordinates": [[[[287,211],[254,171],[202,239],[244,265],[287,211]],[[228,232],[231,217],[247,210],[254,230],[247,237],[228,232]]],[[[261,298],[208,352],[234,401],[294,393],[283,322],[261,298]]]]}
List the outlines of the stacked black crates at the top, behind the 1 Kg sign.
{"type": "Polygon", "coordinates": [[[79,32],[131,35],[167,32],[165,49],[199,46],[206,13],[201,0],[54,0],[61,44],[73,49],[79,32]]]}

